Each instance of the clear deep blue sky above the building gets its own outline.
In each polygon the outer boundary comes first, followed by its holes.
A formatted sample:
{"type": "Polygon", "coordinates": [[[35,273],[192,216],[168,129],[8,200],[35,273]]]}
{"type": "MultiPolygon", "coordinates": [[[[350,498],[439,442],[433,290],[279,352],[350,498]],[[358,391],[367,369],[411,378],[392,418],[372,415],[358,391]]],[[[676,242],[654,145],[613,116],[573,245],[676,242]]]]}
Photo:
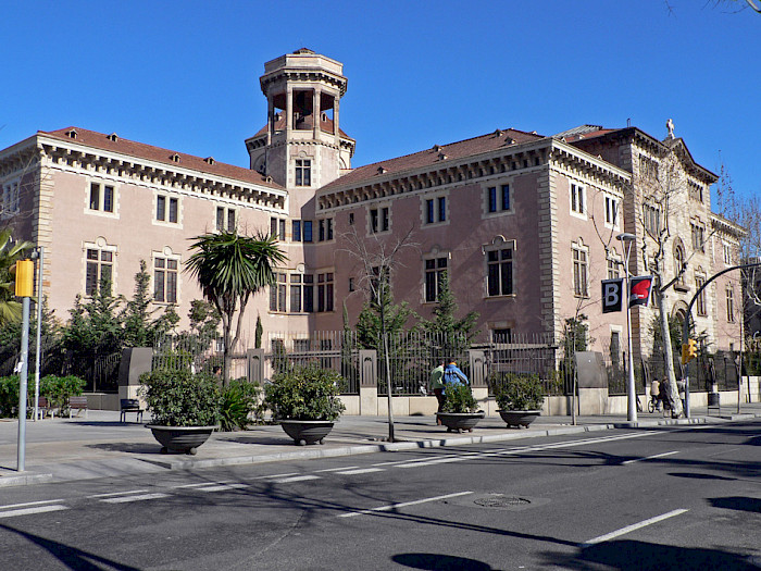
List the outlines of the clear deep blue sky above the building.
{"type": "Polygon", "coordinates": [[[761,191],[761,15],[712,0],[5,0],[0,38],[0,148],[74,125],[247,166],[264,62],[308,47],[345,64],[354,166],[498,127],[663,138],[672,117],[761,191]]]}

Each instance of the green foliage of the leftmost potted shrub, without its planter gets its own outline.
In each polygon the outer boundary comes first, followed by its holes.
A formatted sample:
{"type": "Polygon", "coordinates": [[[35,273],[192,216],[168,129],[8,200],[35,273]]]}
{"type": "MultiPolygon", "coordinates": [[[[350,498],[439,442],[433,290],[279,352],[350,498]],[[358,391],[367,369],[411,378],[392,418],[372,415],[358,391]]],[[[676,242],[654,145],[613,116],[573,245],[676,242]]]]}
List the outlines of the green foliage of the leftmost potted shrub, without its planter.
{"type": "Polygon", "coordinates": [[[217,378],[187,370],[158,369],[140,375],[140,394],[153,424],[211,426],[217,424],[222,394],[217,378]]]}

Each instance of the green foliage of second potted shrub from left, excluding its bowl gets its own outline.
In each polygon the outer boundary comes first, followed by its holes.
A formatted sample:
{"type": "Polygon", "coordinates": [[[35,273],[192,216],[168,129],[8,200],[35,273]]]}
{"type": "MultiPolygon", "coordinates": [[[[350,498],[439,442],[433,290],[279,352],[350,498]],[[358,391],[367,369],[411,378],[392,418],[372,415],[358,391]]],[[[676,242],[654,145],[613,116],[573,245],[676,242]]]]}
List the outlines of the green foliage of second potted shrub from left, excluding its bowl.
{"type": "Polygon", "coordinates": [[[294,367],[264,387],[264,405],[276,420],[334,421],[346,409],[338,398],[342,377],[316,367],[294,367]]]}

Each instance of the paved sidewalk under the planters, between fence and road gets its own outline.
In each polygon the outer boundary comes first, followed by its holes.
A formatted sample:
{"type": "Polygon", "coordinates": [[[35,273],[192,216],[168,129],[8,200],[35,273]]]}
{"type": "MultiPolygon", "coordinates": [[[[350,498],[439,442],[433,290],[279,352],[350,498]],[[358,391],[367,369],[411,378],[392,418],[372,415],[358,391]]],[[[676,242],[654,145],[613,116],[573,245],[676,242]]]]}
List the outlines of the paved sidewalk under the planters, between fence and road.
{"type": "MultiPolygon", "coordinates": [[[[718,417],[708,417],[706,409],[694,409],[689,420],[671,420],[662,413],[638,413],[637,426],[712,423],[761,418],[761,404],[724,407],[718,417]]],[[[166,470],[189,470],[233,464],[252,464],[277,460],[325,458],[404,450],[435,446],[463,446],[629,427],[625,415],[578,417],[577,425],[570,417],[539,417],[529,429],[507,429],[497,418],[482,420],[472,433],[447,433],[432,417],[395,419],[395,438],[387,443],[386,417],[341,417],[323,446],[298,447],[278,425],[252,426],[248,431],[214,433],[198,449],[197,456],[161,455],[159,443],[145,423],[118,422],[117,411],[90,410],[70,420],[46,419],[26,423],[26,471],[17,472],[17,433],[15,420],[0,420],[0,487],[40,482],[65,482],[105,476],[121,476],[166,470]]],[[[149,415],[146,414],[146,422],[149,415]]]]}

